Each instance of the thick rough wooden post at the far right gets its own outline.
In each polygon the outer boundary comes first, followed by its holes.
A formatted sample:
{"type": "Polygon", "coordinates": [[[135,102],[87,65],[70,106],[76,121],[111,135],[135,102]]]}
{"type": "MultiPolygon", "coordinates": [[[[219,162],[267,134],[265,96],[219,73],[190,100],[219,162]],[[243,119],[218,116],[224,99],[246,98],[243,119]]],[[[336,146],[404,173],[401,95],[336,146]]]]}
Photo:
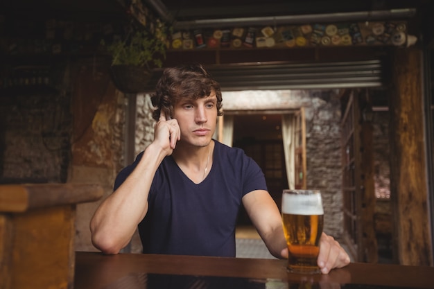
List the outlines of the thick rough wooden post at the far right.
{"type": "Polygon", "coordinates": [[[422,51],[395,49],[390,96],[390,198],[394,255],[402,265],[433,265],[426,182],[422,51]]]}

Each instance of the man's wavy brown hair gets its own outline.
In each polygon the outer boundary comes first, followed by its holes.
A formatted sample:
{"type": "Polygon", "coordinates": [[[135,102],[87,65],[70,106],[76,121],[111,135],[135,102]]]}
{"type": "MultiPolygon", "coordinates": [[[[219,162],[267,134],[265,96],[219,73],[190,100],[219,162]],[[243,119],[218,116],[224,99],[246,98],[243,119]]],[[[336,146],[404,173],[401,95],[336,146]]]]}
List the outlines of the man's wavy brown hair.
{"type": "Polygon", "coordinates": [[[166,68],[155,87],[155,94],[150,97],[155,110],[153,119],[159,120],[161,110],[166,116],[173,116],[173,107],[180,98],[197,99],[209,96],[214,91],[217,97],[217,115],[223,115],[222,93],[220,85],[201,64],[183,64],[166,68]]]}

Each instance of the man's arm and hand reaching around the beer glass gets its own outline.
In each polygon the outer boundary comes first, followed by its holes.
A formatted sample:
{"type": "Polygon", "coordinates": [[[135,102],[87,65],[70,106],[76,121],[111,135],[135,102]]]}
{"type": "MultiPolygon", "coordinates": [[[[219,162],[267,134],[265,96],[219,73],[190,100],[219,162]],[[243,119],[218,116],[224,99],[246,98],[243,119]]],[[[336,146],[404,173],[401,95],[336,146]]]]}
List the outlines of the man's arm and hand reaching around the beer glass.
{"type": "MultiPolygon", "coordinates": [[[[257,190],[243,197],[243,204],[254,227],[276,258],[288,258],[288,247],[281,222],[281,214],[267,191],[257,190]]],[[[327,274],[333,268],[342,268],[349,263],[347,252],[333,237],[322,233],[318,266],[327,274]]]]}

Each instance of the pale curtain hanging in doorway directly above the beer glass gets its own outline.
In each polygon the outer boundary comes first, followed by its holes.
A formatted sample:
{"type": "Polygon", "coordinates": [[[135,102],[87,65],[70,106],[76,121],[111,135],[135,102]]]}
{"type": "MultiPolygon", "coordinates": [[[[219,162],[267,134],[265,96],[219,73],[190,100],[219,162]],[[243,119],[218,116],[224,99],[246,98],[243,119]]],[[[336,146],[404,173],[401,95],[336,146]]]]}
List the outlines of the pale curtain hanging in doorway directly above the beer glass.
{"type": "Polygon", "coordinates": [[[281,134],[284,141],[286,177],[288,189],[295,189],[295,114],[284,114],[281,117],[281,134]]]}

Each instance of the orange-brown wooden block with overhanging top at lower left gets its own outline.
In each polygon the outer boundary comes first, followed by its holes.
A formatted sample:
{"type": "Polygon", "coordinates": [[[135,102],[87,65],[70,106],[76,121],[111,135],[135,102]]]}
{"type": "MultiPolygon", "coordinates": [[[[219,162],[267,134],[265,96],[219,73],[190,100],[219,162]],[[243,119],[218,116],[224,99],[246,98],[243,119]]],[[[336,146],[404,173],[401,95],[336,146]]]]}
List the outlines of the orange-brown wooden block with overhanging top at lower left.
{"type": "Polygon", "coordinates": [[[0,289],[73,287],[76,204],[94,184],[0,185],[0,289]]]}

